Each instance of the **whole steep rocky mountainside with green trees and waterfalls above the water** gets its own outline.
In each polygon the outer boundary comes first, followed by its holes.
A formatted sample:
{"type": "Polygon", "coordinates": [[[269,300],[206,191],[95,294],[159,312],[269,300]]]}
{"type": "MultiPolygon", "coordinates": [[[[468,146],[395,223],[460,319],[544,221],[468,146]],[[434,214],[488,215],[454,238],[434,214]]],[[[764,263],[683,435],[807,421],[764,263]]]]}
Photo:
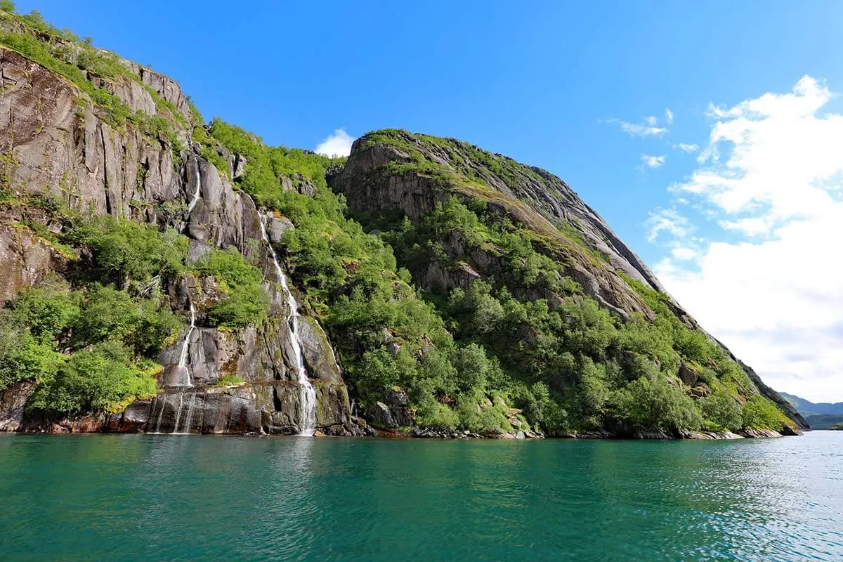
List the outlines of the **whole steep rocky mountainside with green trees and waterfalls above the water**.
{"type": "Polygon", "coordinates": [[[0,428],[808,428],[555,175],[400,130],[269,147],[3,7],[0,428]]]}

